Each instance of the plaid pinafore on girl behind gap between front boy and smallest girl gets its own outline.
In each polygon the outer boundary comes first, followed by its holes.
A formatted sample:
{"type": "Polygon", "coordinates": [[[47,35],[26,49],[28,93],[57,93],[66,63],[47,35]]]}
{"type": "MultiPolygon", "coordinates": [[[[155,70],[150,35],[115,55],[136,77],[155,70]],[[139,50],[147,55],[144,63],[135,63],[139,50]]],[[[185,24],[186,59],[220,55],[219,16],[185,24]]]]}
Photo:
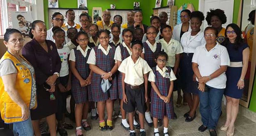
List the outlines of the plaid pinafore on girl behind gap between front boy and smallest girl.
{"type": "Polygon", "coordinates": [[[155,52],[152,52],[152,50],[149,48],[149,45],[146,42],[143,43],[143,47],[145,51],[145,60],[147,61],[149,66],[151,68],[157,66],[157,63],[155,62],[155,54],[161,51],[161,43],[157,43],[157,49],[155,52]]]}

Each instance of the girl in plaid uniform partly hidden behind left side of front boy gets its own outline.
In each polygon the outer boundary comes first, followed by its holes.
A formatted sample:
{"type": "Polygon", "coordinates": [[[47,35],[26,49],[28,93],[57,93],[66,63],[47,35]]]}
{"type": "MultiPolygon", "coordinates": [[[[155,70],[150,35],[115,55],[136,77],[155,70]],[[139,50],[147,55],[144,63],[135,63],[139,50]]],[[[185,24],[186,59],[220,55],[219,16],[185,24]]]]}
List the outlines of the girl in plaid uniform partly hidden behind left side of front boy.
{"type": "MultiPolygon", "coordinates": [[[[114,26],[114,24],[113,24],[114,26]]],[[[112,27],[113,27],[112,26],[112,27]]],[[[131,29],[124,29],[122,33],[122,37],[124,38],[124,42],[120,44],[119,46],[116,47],[115,49],[115,61],[117,61],[117,66],[119,67],[120,64],[124,59],[132,55],[132,47],[131,47],[131,42],[133,38],[133,31],[131,29]]],[[[127,123],[126,120],[126,113],[123,109],[123,89],[122,89],[122,73],[118,73],[118,78],[117,78],[117,83],[118,83],[118,94],[119,94],[119,99],[120,101],[120,111],[118,117],[122,118],[121,126],[124,127],[126,130],[130,130],[130,125],[127,123]]],[[[136,120],[133,120],[133,125],[136,128],[139,128],[139,124],[136,122],[136,120]]]]}

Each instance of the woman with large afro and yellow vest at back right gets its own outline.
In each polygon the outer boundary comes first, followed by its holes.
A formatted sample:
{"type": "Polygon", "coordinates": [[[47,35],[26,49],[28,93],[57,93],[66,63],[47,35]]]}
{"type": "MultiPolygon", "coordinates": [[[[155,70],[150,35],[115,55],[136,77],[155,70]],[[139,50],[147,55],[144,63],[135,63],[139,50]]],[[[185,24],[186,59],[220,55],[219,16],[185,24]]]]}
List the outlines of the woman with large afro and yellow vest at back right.
{"type": "Polygon", "coordinates": [[[215,27],[218,30],[217,41],[221,44],[225,40],[225,28],[222,27],[222,24],[227,22],[227,17],[224,13],[224,10],[221,9],[210,9],[210,12],[207,12],[205,18],[209,26],[215,27]]]}

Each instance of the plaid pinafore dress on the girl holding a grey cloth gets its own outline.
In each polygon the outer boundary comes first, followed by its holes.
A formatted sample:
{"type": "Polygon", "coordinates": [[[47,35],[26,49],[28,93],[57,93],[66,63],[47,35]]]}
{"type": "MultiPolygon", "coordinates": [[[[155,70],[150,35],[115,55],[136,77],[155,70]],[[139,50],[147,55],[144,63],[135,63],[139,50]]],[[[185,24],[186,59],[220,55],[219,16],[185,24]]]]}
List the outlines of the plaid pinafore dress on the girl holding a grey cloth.
{"type": "MultiPolygon", "coordinates": [[[[95,57],[96,57],[96,66],[98,66],[100,69],[102,69],[105,72],[111,71],[111,69],[115,65],[114,55],[115,55],[115,47],[111,46],[109,53],[105,55],[101,49],[98,49],[98,47],[94,47],[95,51],[95,57]]],[[[112,85],[110,89],[107,90],[106,93],[104,93],[100,87],[102,78],[101,75],[93,73],[92,74],[92,82],[91,82],[91,88],[92,88],[92,100],[95,102],[98,101],[105,101],[107,99],[117,99],[118,98],[118,91],[117,91],[117,81],[116,81],[116,75],[112,75],[112,81],[109,81],[112,85]]]]}

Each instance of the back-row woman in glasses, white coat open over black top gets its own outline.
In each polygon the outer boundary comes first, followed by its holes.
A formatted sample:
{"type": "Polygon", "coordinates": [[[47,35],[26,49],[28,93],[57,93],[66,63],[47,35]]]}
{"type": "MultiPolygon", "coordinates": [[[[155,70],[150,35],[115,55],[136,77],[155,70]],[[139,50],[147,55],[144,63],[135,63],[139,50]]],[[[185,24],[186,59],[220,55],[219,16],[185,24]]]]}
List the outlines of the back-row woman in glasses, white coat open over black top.
{"type": "Polygon", "coordinates": [[[190,18],[190,14],[191,14],[191,11],[188,10],[188,9],[185,9],[183,11],[181,11],[181,15],[180,15],[180,18],[181,18],[181,24],[179,25],[176,25],[174,28],[173,28],[173,36],[172,38],[177,40],[177,41],[180,41],[182,35],[191,30],[191,27],[190,27],[190,24],[189,24],[189,18],[190,18]]]}

